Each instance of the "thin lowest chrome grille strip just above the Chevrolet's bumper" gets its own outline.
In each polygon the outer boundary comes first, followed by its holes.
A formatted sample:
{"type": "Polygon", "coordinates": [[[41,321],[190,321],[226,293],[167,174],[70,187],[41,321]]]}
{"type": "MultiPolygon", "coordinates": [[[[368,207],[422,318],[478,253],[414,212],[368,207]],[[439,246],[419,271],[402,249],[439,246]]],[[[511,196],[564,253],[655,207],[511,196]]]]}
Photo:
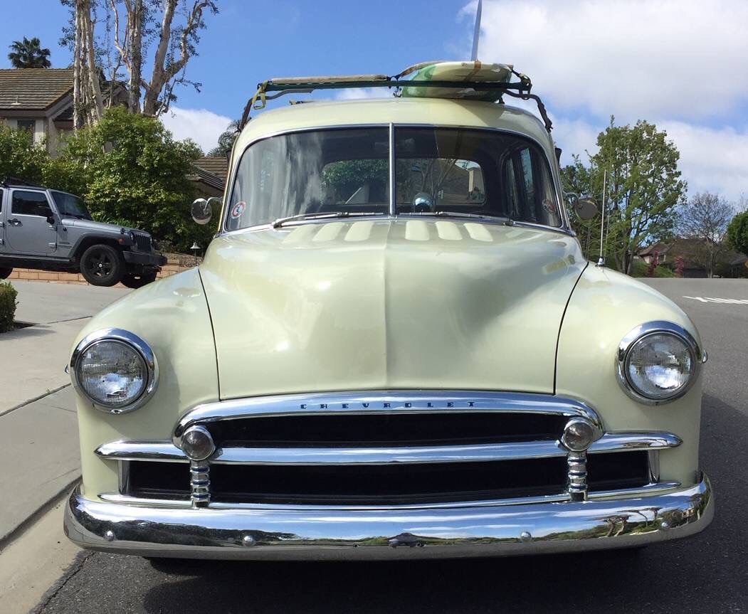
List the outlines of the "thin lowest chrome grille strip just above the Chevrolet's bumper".
{"type": "MultiPolygon", "coordinates": [[[[647,484],[637,488],[620,488],[615,491],[590,491],[587,495],[588,500],[606,500],[620,497],[637,497],[640,495],[649,495],[654,493],[665,493],[674,491],[681,486],[680,482],[659,482],[656,484],[647,484]]],[[[99,499],[110,503],[121,503],[127,506],[147,506],[147,507],[164,507],[164,508],[190,508],[189,499],[151,499],[150,497],[130,497],[120,493],[102,493],[99,499]]],[[[533,503],[567,503],[571,497],[567,492],[559,494],[540,495],[536,497],[513,497],[511,499],[489,499],[482,501],[457,501],[454,503],[411,503],[402,506],[315,506],[315,505],[281,505],[278,503],[221,503],[211,501],[207,509],[264,509],[264,510],[298,510],[299,512],[326,511],[334,512],[339,510],[358,510],[358,511],[375,511],[375,510],[407,510],[407,509],[461,509],[461,508],[481,508],[494,506],[521,506],[533,503]]]]}

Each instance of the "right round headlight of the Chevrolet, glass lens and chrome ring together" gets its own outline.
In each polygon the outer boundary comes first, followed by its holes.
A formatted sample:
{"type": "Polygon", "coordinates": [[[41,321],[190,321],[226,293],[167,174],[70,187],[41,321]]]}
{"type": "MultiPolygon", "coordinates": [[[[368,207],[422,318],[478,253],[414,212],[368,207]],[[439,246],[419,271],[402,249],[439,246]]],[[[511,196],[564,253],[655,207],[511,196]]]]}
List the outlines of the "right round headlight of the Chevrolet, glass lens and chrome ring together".
{"type": "Polygon", "coordinates": [[[650,322],[631,331],[619,346],[619,379],[639,400],[672,401],[696,381],[701,360],[699,346],[683,328],[650,322]]]}

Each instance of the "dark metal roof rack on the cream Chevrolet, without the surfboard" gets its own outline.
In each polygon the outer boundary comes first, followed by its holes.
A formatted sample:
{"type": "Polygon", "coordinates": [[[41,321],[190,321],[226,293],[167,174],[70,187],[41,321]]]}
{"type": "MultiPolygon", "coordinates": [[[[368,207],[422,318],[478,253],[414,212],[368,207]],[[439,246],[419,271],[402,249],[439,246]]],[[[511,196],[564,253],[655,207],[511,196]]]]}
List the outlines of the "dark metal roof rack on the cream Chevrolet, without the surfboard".
{"type": "Polygon", "coordinates": [[[530,93],[533,83],[530,77],[516,72],[512,67],[508,67],[512,74],[518,77],[515,82],[498,82],[498,81],[431,81],[423,79],[403,79],[404,76],[414,72],[415,69],[423,67],[429,63],[417,64],[409,67],[402,73],[395,76],[387,75],[345,75],[345,76],[319,76],[319,77],[290,77],[282,79],[269,79],[257,84],[257,91],[249,99],[242,113],[242,120],[239,122],[238,130],[241,130],[249,121],[250,112],[254,109],[259,111],[265,108],[266,101],[274,100],[280,96],[289,93],[312,93],[315,90],[344,90],[351,88],[396,88],[396,95],[402,91],[402,88],[450,88],[454,90],[472,89],[476,91],[493,92],[499,94],[497,102],[503,102],[500,96],[506,94],[513,98],[523,100],[533,99],[538,105],[538,110],[545,129],[551,132],[553,123],[545,111],[545,105],[536,94],[530,93]]]}

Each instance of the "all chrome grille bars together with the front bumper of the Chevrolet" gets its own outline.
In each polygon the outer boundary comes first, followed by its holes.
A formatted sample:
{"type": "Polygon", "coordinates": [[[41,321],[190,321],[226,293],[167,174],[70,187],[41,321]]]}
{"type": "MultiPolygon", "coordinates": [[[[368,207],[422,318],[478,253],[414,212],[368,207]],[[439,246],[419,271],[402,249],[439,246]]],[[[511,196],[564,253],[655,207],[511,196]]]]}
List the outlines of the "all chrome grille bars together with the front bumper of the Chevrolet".
{"type": "Polygon", "coordinates": [[[574,399],[465,391],[366,391],[236,399],[201,405],[174,428],[171,440],[104,443],[96,455],[120,468],[116,493],[76,488],[65,532],[82,547],[143,556],[215,559],[387,559],[502,556],[632,547],[685,537],[714,515],[705,476],[696,485],[660,480],[660,451],[681,440],[666,432],[606,432],[598,414],[574,399]],[[558,440],[444,446],[224,447],[206,427],[255,417],[350,414],[551,414],[566,422],[558,440]],[[571,427],[586,427],[581,434],[571,427]],[[196,452],[190,429],[207,433],[196,452]],[[572,438],[577,437],[577,440],[572,438]],[[649,484],[590,490],[587,455],[647,452],[649,484]],[[512,461],[566,457],[566,488],[515,499],[409,505],[345,506],[231,503],[212,497],[210,467],[328,466],[512,461]],[[138,498],[129,490],[132,461],[179,463],[191,496],[138,498]]]}

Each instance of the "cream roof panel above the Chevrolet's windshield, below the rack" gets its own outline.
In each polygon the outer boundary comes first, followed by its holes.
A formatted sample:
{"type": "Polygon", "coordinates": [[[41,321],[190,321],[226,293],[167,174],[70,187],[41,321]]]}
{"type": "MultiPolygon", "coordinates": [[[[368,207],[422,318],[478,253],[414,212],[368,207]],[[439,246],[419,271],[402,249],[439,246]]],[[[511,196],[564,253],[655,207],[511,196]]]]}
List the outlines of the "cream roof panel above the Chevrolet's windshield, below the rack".
{"type": "Polygon", "coordinates": [[[283,132],[336,126],[390,123],[502,129],[527,135],[554,156],[554,143],[541,121],[528,111],[496,102],[437,98],[385,98],[320,101],[263,111],[242,130],[236,151],[283,132]]]}

